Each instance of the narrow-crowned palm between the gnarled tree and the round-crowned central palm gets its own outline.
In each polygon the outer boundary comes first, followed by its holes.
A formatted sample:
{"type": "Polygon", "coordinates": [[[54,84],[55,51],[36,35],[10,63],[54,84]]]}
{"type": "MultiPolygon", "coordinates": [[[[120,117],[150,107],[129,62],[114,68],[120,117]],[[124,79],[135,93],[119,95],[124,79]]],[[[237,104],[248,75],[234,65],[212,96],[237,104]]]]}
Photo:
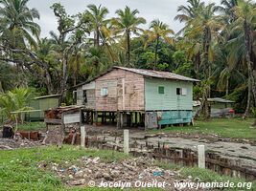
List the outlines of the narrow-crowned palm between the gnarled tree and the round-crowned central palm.
{"type": "Polygon", "coordinates": [[[105,20],[105,16],[108,13],[108,10],[101,5],[97,7],[96,5],[88,5],[87,8],[89,11],[86,11],[93,31],[94,31],[94,46],[100,46],[100,36],[102,35],[102,28],[105,26],[107,20],[105,20]]]}

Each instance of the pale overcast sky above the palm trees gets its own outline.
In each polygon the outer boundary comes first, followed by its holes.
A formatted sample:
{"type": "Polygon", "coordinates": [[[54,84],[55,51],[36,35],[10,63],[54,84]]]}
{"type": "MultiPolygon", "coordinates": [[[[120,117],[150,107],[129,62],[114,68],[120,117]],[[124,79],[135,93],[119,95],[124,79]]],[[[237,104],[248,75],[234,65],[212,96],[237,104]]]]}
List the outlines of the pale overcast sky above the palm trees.
{"type": "MultiPolygon", "coordinates": [[[[205,2],[220,3],[221,0],[206,0],[205,2]]],[[[88,4],[103,5],[108,11],[108,17],[114,17],[115,11],[124,9],[125,6],[140,11],[140,16],[147,19],[147,25],[153,19],[160,19],[167,23],[171,29],[178,32],[182,25],[178,21],[174,21],[177,13],[176,9],[179,5],[186,5],[186,0],[30,0],[29,7],[35,8],[40,13],[38,24],[41,27],[42,37],[49,36],[50,31],[56,31],[57,20],[50,9],[51,5],[60,2],[69,14],[76,14],[86,10],[88,4]]]]}

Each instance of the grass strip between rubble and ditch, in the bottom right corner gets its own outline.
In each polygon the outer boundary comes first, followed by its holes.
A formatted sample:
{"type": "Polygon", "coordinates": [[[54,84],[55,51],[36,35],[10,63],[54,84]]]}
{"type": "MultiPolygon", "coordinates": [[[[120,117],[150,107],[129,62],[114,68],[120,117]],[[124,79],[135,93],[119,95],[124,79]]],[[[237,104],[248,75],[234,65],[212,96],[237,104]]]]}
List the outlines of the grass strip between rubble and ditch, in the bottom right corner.
{"type": "MultiPolygon", "coordinates": [[[[220,175],[217,172],[214,172],[209,169],[200,169],[198,167],[183,167],[176,165],[175,163],[172,162],[162,162],[162,161],[157,161],[155,165],[163,168],[163,169],[172,169],[175,171],[178,171],[180,175],[185,179],[188,178],[189,176],[192,177],[192,180],[200,180],[200,182],[234,182],[235,184],[239,182],[249,182],[248,180],[244,179],[238,179],[238,178],[231,178],[229,176],[224,176],[220,175]]],[[[246,186],[243,188],[246,189],[246,186]]],[[[240,189],[235,189],[235,188],[229,188],[225,190],[241,190],[240,189]]],[[[250,190],[256,190],[256,182],[253,181],[250,190]]]]}

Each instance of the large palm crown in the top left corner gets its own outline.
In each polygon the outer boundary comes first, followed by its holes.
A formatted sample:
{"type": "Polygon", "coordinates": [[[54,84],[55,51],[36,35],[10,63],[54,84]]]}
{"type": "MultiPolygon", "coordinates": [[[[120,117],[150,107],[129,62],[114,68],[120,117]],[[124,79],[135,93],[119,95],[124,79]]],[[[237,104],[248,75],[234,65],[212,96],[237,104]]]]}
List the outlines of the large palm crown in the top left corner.
{"type": "Polygon", "coordinates": [[[22,44],[27,40],[35,46],[36,42],[33,35],[38,39],[40,27],[34,22],[34,19],[39,19],[39,13],[37,10],[27,7],[28,1],[1,0],[0,16],[5,19],[8,30],[14,35],[13,38],[20,38],[18,42],[22,44]]]}

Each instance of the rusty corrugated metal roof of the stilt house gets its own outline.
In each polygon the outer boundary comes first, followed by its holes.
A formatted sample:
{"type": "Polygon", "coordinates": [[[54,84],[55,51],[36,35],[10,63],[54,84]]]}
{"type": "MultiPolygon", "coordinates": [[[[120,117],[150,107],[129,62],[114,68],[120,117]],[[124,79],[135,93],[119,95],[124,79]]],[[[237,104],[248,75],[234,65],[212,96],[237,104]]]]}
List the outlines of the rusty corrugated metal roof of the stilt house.
{"type": "Polygon", "coordinates": [[[145,69],[133,69],[133,68],[125,68],[125,67],[114,67],[116,69],[126,70],[136,74],[142,74],[149,77],[157,77],[157,78],[164,78],[164,79],[174,79],[174,80],[182,80],[182,81],[199,81],[198,79],[194,79],[191,77],[186,77],[180,74],[174,74],[169,72],[162,72],[162,71],[151,71],[145,69]]]}

